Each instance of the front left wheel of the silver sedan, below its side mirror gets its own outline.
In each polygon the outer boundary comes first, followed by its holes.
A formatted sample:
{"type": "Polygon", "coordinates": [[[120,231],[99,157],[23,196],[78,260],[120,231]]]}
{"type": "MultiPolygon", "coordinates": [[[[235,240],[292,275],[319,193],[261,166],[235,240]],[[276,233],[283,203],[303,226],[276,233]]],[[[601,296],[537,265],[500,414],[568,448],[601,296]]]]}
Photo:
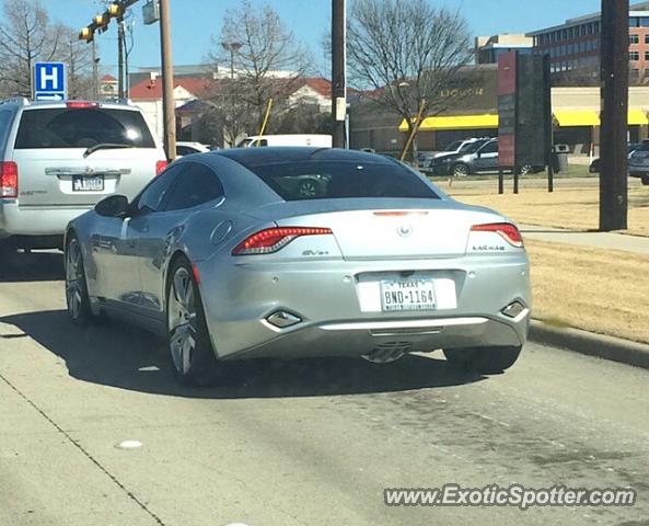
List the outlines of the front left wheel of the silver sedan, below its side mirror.
{"type": "Polygon", "coordinates": [[[68,237],[65,248],[66,305],[73,323],[85,327],[96,321],[90,307],[85,267],[81,243],[74,233],[68,237]]]}

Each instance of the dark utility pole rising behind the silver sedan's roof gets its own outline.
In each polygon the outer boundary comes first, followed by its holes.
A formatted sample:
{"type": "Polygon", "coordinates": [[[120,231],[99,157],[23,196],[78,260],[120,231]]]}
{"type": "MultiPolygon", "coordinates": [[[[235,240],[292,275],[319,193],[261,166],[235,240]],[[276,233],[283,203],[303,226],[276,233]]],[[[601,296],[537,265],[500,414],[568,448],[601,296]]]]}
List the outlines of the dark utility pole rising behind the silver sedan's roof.
{"type": "Polygon", "coordinates": [[[334,148],[346,146],[346,32],[345,0],[332,0],[332,141],[334,148]]]}

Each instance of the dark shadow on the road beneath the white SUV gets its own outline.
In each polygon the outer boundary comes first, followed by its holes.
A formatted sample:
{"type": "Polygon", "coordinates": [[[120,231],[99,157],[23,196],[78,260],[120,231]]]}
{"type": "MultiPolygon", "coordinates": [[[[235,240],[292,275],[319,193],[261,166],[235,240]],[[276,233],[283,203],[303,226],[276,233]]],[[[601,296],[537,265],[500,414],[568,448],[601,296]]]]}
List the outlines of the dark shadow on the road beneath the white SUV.
{"type": "Polygon", "coordinates": [[[0,283],[56,282],[63,277],[61,252],[20,252],[0,261],[0,283]]]}

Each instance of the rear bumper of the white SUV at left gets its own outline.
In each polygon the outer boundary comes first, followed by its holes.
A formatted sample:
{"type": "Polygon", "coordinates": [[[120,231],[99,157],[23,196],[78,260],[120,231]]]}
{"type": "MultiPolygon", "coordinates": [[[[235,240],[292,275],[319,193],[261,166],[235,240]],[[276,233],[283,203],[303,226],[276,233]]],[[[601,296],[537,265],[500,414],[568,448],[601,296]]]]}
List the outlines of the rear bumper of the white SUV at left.
{"type": "Polygon", "coordinates": [[[68,222],[90,208],[19,206],[13,199],[0,199],[0,239],[62,236],[68,222]]]}

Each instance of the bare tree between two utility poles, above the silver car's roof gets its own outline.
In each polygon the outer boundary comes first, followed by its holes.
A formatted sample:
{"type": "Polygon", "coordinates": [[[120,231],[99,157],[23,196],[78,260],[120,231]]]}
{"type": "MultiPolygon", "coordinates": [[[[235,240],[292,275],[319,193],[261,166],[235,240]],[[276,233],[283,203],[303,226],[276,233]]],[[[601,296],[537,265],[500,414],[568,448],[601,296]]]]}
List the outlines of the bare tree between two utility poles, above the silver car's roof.
{"type": "MultiPolygon", "coordinates": [[[[257,129],[268,100],[274,100],[275,108],[283,108],[299,78],[313,62],[273,8],[264,4],[256,9],[250,0],[225,13],[219,37],[212,37],[209,58],[221,65],[234,60],[230,101],[237,107],[247,106],[250,125],[257,129]],[[233,44],[237,48],[231,55],[233,44]]],[[[228,98],[222,99],[227,101],[228,98]]]]}

